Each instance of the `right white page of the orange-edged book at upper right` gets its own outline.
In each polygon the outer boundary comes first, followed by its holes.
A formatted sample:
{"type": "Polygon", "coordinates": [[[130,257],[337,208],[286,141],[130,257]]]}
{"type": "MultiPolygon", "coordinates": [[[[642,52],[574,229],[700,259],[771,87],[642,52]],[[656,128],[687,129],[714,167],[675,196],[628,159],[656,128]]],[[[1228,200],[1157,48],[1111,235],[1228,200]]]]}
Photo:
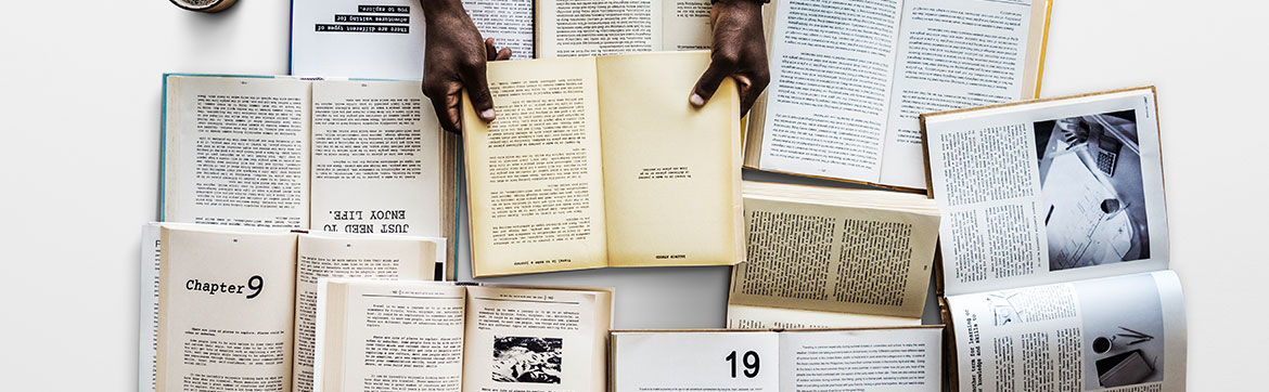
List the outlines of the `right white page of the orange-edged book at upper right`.
{"type": "Polygon", "coordinates": [[[925,189],[921,113],[1030,98],[1030,20],[1032,0],[904,1],[881,184],[925,189]]]}

